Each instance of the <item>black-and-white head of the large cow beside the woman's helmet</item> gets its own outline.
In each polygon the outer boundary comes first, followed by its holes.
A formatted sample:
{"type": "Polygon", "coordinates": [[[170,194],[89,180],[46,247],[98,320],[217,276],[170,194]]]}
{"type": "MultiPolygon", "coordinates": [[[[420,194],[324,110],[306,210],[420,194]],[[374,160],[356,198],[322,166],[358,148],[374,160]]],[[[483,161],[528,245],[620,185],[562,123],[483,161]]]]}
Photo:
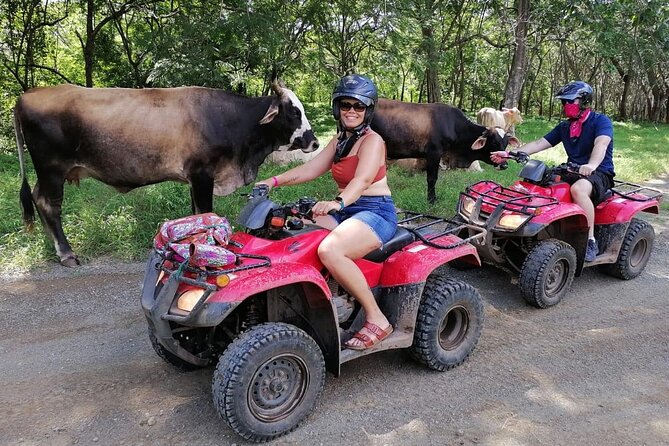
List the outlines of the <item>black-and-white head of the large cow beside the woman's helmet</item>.
{"type": "Polygon", "coordinates": [[[277,150],[301,149],[305,153],[318,149],[318,139],[295,93],[276,83],[272,84],[274,98],[261,125],[272,126],[279,137],[277,150]]]}

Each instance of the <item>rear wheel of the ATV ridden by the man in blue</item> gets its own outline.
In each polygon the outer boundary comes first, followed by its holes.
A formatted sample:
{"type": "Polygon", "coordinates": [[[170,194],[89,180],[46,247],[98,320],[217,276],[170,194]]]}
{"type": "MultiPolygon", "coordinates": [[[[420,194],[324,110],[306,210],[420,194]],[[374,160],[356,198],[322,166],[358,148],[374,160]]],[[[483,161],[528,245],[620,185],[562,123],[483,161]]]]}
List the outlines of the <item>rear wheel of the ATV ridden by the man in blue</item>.
{"type": "Polygon", "coordinates": [[[619,279],[633,279],[644,270],[655,241],[655,230],[646,221],[633,218],[630,222],[616,263],[605,265],[604,271],[619,279]]]}

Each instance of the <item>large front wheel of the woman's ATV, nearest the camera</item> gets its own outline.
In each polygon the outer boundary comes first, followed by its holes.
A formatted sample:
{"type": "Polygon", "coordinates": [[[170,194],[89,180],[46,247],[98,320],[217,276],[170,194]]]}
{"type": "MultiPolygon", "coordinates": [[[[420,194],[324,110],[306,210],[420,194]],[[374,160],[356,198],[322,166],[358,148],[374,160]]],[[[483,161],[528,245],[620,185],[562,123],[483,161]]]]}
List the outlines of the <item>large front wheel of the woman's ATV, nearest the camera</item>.
{"type": "Polygon", "coordinates": [[[240,335],[214,372],[218,414],[247,440],[291,432],[311,412],[325,385],[320,347],[301,329],[280,322],[240,335]]]}

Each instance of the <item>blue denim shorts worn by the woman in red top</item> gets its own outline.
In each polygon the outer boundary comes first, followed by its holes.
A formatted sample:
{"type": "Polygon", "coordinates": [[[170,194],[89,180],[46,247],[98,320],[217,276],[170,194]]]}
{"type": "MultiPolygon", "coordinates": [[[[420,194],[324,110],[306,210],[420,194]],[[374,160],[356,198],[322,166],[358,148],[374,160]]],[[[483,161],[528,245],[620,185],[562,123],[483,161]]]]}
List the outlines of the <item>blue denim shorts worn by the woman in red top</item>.
{"type": "Polygon", "coordinates": [[[397,230],[395,202],[390,195],[363,195],[355,203],[336,212],[333,217],[337,223],[349,218],[362,221],[374,231],[381,243],[390,240],[397,230]]]}

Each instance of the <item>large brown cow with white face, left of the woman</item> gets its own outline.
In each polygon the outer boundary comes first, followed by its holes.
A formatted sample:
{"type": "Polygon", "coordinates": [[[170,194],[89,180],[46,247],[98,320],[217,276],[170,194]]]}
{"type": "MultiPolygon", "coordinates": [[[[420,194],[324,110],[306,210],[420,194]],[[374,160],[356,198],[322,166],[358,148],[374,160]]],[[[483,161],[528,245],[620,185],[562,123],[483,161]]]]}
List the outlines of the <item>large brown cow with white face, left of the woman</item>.
{"type": "Polygon", "coordinates": [[[190,184],[193,212],[212,210],[212,194],[251,183],[273,150],[318,148],[304,107],[278,85],[250,98],[201,87],[37,88],[19,98],[14,126],[26,223],[36,205],[63,265],[78,260],[63,233],[65,180],[91,176],[121,192],[161,181],[190,184]],[[37,183],[30,193],[23,149],[37,183]]]}

